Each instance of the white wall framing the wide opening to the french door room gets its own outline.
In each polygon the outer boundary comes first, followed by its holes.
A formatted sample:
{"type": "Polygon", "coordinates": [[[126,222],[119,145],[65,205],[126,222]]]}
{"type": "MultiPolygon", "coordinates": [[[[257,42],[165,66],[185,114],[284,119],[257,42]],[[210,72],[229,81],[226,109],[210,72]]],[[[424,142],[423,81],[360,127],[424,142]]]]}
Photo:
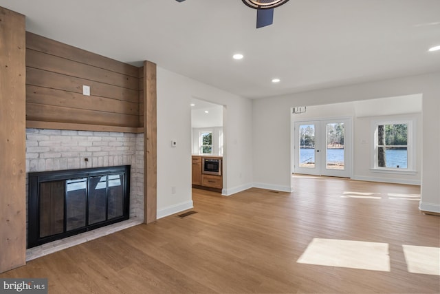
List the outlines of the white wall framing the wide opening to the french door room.
{"type": "Polygon", "coordinates": [[[253,161],[256,186],[292,189],[291,107],[422,94],[421,209],[440,212],[439,81],[440,73],[437,72],[255,100],[253,161]]]}

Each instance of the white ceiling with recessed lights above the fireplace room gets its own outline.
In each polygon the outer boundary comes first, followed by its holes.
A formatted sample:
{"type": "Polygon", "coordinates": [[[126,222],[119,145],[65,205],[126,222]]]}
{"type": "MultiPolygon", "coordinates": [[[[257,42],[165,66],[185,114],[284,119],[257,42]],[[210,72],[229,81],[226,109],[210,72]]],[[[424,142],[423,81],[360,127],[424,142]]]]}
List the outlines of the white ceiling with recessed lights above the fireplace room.
{"type": "Polygon", "coordinates": [[[241,0],[0,0],[27,30],[248,98],[440,70],[440,0],[290,0],[256,30],[241,0]],[[241,52],[245,58],[232,60],[241,52]],[[274,77],[281,83],[272,84],[274,77]]]}

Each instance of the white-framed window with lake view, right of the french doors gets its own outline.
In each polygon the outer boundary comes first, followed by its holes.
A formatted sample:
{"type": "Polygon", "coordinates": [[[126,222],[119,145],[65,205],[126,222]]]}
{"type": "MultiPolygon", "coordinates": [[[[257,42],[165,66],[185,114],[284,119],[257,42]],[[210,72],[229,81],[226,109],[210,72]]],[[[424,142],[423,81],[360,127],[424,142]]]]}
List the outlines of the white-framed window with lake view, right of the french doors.
{"type": "Polygon", "coordinates": [[[412,171],[412,121],[375,123],[373,169],[412,171]]]}

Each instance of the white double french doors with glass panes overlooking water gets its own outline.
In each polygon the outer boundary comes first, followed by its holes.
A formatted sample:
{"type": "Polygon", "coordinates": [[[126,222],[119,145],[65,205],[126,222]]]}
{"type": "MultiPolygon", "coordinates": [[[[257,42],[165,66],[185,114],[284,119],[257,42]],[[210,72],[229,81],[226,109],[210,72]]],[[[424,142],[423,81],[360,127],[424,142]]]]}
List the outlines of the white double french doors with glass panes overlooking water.
{"type": "Polygon", "coordinates": [[[294,123],[294,172],[351,177],[351,119],[294,123]]]}

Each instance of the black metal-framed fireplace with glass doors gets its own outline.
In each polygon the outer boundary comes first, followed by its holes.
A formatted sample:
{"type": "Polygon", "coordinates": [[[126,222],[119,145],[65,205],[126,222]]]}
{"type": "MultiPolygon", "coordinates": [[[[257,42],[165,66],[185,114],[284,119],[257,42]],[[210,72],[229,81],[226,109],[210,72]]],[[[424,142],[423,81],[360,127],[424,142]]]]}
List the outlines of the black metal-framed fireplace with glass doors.
{"type": "Polygon", "coordinates": [[[35,172],[28,179],[28,248],[129,219],[129,165],[35,172]]]}

